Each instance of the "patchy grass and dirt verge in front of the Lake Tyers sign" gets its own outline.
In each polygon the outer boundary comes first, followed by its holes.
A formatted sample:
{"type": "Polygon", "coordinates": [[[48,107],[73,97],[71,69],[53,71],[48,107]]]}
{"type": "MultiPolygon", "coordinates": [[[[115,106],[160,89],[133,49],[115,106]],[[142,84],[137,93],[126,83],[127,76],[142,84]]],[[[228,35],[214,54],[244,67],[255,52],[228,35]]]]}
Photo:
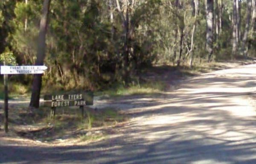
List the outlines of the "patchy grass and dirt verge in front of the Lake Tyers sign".
{"type": "Polygon", "coordinates": [[[58,108],[55,119],[51,119],[49,113],[49,108],[36,110],[32,115],[26,111],[23,111],[22,114],[16,113],[12,126],[16,127],[18,136],[43,142],[60,139],[93,141],[108,135],[108,132],[104,130],[106,127],[114,127],[128,120],[128,116],[113,108],[97,111],[89,109],[86,110],[84,117],[81,116],[81,111],[76,108],[58,108]],[[26,125],[27,128],[20,130],[20,124],[26,125]],[[94,133],[99,129],[102,132],[94,133]]]}

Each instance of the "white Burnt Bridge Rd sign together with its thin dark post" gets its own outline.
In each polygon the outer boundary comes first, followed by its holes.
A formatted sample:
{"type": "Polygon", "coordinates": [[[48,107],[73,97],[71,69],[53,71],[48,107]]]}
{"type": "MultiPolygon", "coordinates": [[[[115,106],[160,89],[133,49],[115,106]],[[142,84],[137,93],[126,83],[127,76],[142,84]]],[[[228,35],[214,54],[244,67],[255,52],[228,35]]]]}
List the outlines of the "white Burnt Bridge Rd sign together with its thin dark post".
{"type": "Polygon", "coordinates": [[[3,74],[4,83],[4,129],[8,133],[8,74],[43,74],[47,69],[45,65],[28,66],[4,66],[0,67],[0,73],[3,74]]]}

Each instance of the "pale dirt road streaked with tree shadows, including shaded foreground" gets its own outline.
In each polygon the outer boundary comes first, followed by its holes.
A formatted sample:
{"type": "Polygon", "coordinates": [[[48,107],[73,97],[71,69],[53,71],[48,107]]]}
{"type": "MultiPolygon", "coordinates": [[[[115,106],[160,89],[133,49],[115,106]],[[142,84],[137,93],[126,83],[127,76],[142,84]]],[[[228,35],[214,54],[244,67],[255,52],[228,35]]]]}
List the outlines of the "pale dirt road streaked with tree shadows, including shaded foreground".
{"type": "Polygon", "coordinates": [[[126,104],[134,116],[115,129],[122,135],[73,147],[28,147],[0,139],[0,163],[255,164],[255,78],[256,65],[246,65],[184,80],[180,89],[154,99],[109,102],[126,104]]]}

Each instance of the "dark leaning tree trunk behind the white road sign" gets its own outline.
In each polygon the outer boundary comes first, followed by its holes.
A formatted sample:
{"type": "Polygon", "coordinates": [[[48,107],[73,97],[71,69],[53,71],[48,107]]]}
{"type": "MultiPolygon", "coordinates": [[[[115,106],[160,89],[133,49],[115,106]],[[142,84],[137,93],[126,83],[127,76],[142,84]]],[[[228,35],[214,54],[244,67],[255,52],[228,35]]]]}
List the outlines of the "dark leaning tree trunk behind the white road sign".
{"type": "MultiPolygon", "coordinates": [[[[48,15],[49,15],[49,6],[51,0],[44,0],[43,4],[43,11],[41,15],[40,21],[40,31],[38,37],[38,49],[37,49],[37,59],[35,65],[43,65],[44,64],[44,57],[45,57],[45,37],[47,33],[47,24],[48,24],[48,15]]],[[[40,99],[40,92],[42,86],[42,74],[35,74],[33,79],[33,86],[32,86],[32,95],[30,100],[30,107],[39,107],[39,99],[40,99]]]]}

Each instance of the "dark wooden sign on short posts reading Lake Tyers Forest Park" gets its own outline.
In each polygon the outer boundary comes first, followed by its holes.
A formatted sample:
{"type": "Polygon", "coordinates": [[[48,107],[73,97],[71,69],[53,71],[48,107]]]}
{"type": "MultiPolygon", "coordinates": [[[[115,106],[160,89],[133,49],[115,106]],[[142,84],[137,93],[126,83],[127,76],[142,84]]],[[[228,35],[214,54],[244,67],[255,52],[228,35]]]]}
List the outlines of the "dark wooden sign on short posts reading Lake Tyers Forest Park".
{"type": "Polygon", "coordinates": [[[53,94],[44,96],[44,106],[52,108],[51,117],[55,116],[56,107],[79,106],[84,116],[84,106],[93,105],[93,92],[73,94],[53,94]]]}

